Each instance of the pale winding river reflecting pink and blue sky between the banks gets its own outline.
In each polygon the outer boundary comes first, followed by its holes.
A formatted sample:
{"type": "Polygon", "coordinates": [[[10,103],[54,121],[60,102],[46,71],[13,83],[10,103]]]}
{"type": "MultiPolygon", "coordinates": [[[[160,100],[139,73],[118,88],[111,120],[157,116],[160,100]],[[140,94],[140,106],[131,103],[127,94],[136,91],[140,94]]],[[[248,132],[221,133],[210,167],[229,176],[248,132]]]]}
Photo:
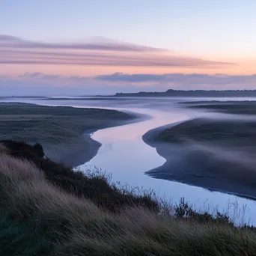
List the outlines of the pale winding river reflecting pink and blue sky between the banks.
{"type": "Polygon", "coordinates": [[[127,183],[133,187],[153,189],[157,195],[167,198],[172,203],[178,203],[180,198],[184,197],[198,209],[216,210],[218,208],[222,212],[228,210],[237,222],[243,222],[246,219],[256,223],[255,216],[250,214],[251,211],[253,213],[256,210],[255,201],[222,192],[210,192],[207,189],[174,181],[153,179],[145,175],[145,171],[162,165],[165,159],[159,156],[153,147],[145,144],[141,136],[149,129],[186,120],[189,115],[186,112],[177,112],[177,109],[169,113],[149,109],[132,110],[152,115],[153,118],[137,124],[95,132],[92,138],[103,145],[97,156],[80,168],[96,166],[103,171],[111,172],[113,181],[120,181],[123,185],[127,183]],[[246,209],[243,209],[245,206],[246,209]],[[240,215],[238,210],[245,212],[244,215],[240,215]]]}

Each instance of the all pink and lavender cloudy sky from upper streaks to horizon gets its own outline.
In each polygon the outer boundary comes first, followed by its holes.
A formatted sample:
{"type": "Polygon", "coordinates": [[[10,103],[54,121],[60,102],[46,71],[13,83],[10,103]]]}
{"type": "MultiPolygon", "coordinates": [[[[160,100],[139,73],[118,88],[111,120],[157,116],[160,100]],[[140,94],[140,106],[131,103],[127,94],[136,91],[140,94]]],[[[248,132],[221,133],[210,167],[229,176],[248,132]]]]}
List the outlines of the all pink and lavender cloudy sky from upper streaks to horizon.
{"type": "Polygon", "coordinates": [[[0,85],[5,89],[62,86],[86,94],[255,88],[255,67],[253,56],[189,55],[106,39],[49,43],[0,35],[0,85]]]}

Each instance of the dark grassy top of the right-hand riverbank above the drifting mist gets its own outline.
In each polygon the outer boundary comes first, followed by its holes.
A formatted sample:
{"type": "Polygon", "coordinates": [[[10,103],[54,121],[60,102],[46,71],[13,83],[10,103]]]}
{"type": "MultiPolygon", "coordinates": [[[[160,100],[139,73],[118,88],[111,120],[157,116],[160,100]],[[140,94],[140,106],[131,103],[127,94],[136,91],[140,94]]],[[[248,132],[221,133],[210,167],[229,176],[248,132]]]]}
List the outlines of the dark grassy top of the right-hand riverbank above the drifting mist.
{"type": "Polygon", "coordinates": [[[159,141],[210,142],[218,146],[253,147],[256,144],[256,122],[196,118],[162,131],[159,141]]]}

